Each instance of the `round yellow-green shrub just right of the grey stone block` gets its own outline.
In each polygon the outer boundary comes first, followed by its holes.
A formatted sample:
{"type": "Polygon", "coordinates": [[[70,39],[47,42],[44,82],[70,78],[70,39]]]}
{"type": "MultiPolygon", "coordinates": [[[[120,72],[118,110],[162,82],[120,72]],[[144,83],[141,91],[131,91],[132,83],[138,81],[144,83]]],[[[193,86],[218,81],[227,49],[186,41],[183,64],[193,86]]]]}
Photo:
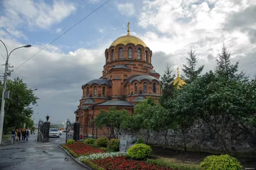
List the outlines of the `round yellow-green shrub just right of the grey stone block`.
{"type": "Polygon", "coordinates": [[[147,144],[134,144],[131,148],[128,149],[128,156],[131,158],[147,158],[152,152],[152,149],[147,144]]]}

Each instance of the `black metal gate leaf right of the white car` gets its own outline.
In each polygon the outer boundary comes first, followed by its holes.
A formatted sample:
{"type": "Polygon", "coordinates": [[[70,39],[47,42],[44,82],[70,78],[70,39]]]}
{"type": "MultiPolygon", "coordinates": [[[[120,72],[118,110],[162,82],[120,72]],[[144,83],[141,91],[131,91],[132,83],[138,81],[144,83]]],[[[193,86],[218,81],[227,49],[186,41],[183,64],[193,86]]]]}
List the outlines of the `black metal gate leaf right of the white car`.
{"type": "Polygon", "coordinates": [[[71,123],[70,120],[67,120],[66,127],[66,143],[69,139],[74,139],[75,141],[79,140],[79,123],[71,123]]]}

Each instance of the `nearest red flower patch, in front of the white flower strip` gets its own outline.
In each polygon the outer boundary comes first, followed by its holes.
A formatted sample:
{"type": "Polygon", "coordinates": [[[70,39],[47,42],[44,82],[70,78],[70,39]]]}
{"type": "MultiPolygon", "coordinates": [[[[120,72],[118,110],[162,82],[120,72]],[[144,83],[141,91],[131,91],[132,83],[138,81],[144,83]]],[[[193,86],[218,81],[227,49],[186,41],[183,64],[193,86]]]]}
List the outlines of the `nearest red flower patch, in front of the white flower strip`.
{"type": "Polygon", "coordinates": [[[172,170],[168,167],[156,166],[140,160],[131,160],[126,157],[108,157],[91,160],[93,164],[104,169],[163,169],[172,170]]]}

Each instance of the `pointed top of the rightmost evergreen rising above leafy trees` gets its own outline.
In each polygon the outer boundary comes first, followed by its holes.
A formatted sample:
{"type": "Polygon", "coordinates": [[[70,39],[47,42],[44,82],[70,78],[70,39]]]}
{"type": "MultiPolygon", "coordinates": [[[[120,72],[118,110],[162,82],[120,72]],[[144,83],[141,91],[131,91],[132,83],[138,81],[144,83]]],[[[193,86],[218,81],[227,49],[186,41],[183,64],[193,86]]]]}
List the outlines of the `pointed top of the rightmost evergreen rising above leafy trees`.
{"type": "Polygon", "coordinates": [[[225,79],[242,79],[244,77],[244,72],[237,73],[239,61],[236,62],[235,65],[231,64],[231,54],[228,52],[227,47],[225,46],[225,43],[223,43],[223,46],[221,47],[221,53],[218,54],[218,57],[216,58],[216,68],[215,72],[220,77],[223,77],[225,79]]]}

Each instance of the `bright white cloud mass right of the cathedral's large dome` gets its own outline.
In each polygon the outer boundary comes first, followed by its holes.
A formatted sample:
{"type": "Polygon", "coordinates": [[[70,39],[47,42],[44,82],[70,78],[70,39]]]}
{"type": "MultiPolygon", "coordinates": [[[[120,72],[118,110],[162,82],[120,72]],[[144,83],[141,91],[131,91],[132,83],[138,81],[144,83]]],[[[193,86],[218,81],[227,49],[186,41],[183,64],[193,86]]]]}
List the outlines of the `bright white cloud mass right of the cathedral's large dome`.
{"type": "MultiPolygon", "coordinates": [[[[243,32],[237,29],[230,31],[225,28],[225,24],[230,24],[227,22],[233,13],[246,10],[249,6],[252,7],[253,4],[255,6],[255,2],[253,3],[252,0],[244,0],[238,3],[233,0],[219,0],[211,1],[211,4],[199,0],[144,0],[142,3],[143,10],[138,15],[138,25],[150,30],[154,28],[157,31],[148,31],[144,35],[138,36],[145,41],[153,52],[161,51],[169,55],[169,58],[164,59],[166,59],[166,62],[172,63],[173,68],[184,64],[186,53],[192,47],[198,54],[200,65],[205,64],[205,70],[213,69],[214,65],[208,58],[217,56],[223,42],[232,52],[234,61],[238,61],[241,56],[244,56],[244,59],[247,58],[244,61],[241,60],[241,66],[244,66],[248,59],[252,59],[250,56],[256,49],[256,44],[252,43],[256,40],[252,37],[253,34],[256,35],[256,32],[253,32],[252,29],[248,29],[251,32],[243,32]],[[249,33],[250,35],[248,35],[249,33]]],[[[239,19],[246,20],[248,17],[250,18],[252,9],[244,13],[239,13],[239,19]],[[244,13],[247,15],[243,15],[244,13]]],[[[230,22],[236,22],[237,18],[230,22]]],[[[246,22],[246,26],[248,28],[256,27],[255,18],[252,18],[248,23],[246,22]],[[250,27],[247,26],[248,24],[250,24],[250,27]]],[[[156,58],[157,56],[154,55],[153,59],[156,58]]],[[[252,60],[252,63],[256,64],[256,59],[252,60]]],[[[256,72],[255,68],[252,67],[243,67],[243,69],[247,69],[252,74],[256,72]]]]}

